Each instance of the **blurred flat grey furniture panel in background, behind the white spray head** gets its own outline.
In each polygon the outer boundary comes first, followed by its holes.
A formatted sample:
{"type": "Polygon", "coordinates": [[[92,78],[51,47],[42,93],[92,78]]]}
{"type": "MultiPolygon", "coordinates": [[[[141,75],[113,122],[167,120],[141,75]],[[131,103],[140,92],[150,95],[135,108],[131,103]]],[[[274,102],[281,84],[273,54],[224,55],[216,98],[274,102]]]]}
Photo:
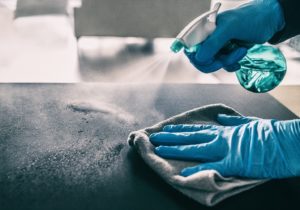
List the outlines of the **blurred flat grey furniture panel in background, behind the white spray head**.
{"type": "Polygon", "coordinates": [[[210,0],[84,0],[75,10],[76,36],[174,37],[210,0]]]}

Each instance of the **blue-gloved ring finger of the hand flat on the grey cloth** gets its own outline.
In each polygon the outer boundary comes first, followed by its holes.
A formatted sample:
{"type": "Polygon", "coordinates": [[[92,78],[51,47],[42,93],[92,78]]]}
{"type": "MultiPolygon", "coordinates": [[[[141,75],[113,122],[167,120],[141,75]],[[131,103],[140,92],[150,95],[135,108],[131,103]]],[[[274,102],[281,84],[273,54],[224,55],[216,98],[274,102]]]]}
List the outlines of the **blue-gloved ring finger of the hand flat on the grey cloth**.
{"type": "Polygon", "coordinates": [[[225,157],[225,152],[220,151],[215,142],[184,146],[159,146],[154,151],[160,157],[176,160],[218,161],[225,157]]]}

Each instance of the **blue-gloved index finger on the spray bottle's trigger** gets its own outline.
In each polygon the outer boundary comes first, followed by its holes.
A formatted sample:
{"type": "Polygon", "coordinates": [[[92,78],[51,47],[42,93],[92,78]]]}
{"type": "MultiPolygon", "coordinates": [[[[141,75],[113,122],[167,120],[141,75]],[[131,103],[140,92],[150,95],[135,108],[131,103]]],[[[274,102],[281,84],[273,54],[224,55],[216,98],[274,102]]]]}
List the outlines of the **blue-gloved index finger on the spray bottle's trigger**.
{"type": "Polygon", "coordinates": [[[225,24],[220,24],[216,30],[202,42],[195,55],[195,60],[200,65],[212,60],[222,47],[230,40],[229,31],[225,24]]]}

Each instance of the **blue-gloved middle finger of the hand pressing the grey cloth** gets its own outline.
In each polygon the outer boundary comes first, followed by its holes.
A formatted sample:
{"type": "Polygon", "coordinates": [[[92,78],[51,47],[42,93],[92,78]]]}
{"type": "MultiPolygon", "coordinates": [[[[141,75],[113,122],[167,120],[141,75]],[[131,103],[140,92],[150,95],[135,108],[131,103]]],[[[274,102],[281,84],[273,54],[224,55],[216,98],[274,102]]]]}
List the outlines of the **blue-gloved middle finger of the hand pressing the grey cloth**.
{"type": "Polygon", "coordinates": [[[150,142],[157,145],[188,145],[207,143],[215,139],[217,134],[211,130],[203,130],[198,132],[181,132],[168,133],[159,132],[150,135],[150,142]]]}

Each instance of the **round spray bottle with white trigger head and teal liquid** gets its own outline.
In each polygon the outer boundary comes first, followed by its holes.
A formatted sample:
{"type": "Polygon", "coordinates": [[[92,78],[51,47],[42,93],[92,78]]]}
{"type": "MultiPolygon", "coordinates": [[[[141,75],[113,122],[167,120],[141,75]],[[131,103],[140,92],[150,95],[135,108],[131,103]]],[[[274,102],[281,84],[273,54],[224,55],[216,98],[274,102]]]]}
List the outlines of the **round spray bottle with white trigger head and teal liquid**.
{"type": "MultiPolygon", "coordinates": [[[[220,7],[221,3],[216,3],[212,10],[185,26],[172,43],[171,50],[177,53],[184,48],[190,53],[196,52],[199,44],[216,29],[220,7]]],[[[251,92],[264,93],[281,83],[286,73],[286,61],[278,48],[229,41],[221,52],[227,54],[238,47],[249,49],[247,55],[239,62],[241,68],[235,72],[242,87],[251,92]]]]}

